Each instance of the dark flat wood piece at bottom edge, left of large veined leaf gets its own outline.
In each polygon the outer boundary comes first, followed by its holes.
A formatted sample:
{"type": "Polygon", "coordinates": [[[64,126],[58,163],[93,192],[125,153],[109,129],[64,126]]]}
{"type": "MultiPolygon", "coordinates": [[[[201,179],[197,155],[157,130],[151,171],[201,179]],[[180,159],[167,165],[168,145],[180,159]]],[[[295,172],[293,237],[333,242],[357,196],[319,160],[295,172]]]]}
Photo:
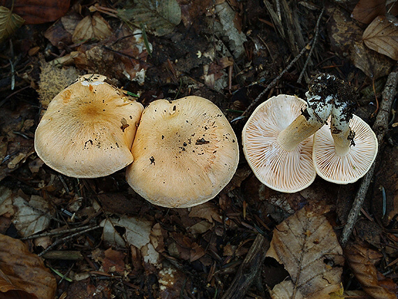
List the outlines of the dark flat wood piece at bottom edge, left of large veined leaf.
{"type": "Polygon", "coordinates": [[[239,266],[232,284],[224,293],[222,299],[244,298],[254,279],[258,276],[258,271],[263,265],[269,245],[268,240],[263,235],[257,235],[243,263],[239,266]]]}

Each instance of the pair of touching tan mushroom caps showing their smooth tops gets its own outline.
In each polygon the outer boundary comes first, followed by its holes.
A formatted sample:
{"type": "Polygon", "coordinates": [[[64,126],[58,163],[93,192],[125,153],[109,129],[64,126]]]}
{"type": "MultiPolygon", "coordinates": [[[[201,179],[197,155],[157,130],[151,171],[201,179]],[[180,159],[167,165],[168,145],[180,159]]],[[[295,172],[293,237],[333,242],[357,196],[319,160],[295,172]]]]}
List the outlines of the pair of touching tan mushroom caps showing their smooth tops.
{"type": "Polygon", "coordinates": [[[156,100],[144,110],[106,81],[83,75],[54,97],[35,133],[40,159],[59,173],[85,178],[130,165],[128,184],[163,207],[199,205],[226,187],[239,149],[214,103],[187,96],[156,100]]]}

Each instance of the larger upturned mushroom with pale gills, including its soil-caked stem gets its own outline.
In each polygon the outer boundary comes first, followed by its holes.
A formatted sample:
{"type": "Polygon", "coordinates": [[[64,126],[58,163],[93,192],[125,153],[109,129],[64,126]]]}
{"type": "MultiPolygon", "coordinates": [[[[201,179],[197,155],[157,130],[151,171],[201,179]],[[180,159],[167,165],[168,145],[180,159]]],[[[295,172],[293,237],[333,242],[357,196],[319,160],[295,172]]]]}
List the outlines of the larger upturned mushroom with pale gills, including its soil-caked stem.
{"type": "Polygon", "coordinates": [[[244,155],[267,187],[293,193],[314,182],[312,135],[332,110],[328,89],[333,80],[330,75],[318,75],[311,81],[307,108],[297,96],[280,94],[259,105],[249,117],[242,131],[244,155]]]}

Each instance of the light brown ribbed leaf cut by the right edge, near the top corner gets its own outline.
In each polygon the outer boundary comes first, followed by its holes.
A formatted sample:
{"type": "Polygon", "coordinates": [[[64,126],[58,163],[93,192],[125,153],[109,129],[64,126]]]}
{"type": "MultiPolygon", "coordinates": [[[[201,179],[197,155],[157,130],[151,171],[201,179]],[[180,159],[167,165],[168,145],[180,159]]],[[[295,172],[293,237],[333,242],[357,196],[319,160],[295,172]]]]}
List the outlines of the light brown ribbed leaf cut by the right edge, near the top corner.
{"type": "Polygon", "coordinates": [[[371,50],[398,60],[398,20],[379,15],[362,35],[364,44],[371,50]]]}

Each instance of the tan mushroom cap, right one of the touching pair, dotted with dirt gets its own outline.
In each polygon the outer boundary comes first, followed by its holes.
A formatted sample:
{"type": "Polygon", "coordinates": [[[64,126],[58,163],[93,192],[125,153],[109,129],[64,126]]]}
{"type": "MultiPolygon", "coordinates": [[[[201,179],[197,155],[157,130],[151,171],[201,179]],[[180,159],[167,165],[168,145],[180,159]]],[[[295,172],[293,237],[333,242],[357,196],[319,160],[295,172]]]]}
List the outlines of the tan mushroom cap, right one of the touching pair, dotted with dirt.
{"type": "Polygon", "coordinates": [[[192,207],[214,198],[239,161],[228,120],[200,96],[150,103],[142,112],[131,152],[128,184],[163,207],[192,207]]]}

